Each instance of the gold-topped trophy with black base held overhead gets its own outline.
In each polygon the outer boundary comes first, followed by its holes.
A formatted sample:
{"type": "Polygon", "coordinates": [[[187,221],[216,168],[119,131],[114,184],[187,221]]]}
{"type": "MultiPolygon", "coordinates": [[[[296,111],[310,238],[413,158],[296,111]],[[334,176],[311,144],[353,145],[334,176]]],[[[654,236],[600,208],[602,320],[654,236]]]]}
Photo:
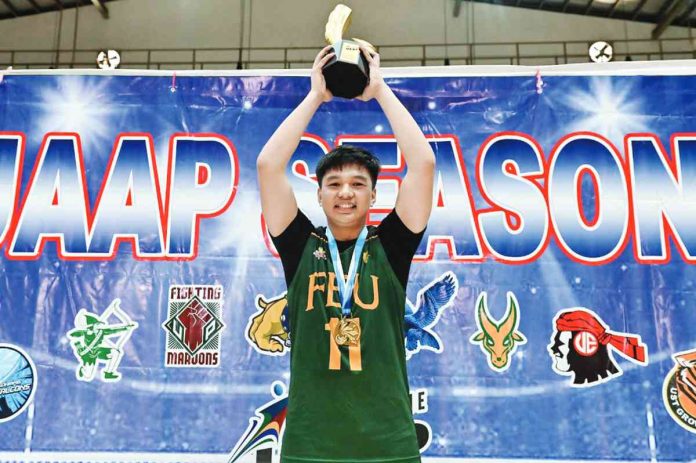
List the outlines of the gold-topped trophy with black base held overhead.
{"type": "Polygon", "coordinates": [[[360,52],[360,45],[374,51],[368,42],[353,38],[343,39],[350,27],[351,9],[338,4],[326,23],[326,42],[333,46],[334,57],[324,65],[322,72],[326,87],[334,96],[355,98],[361,95],[370,80],[370,64],[360,52]]]}

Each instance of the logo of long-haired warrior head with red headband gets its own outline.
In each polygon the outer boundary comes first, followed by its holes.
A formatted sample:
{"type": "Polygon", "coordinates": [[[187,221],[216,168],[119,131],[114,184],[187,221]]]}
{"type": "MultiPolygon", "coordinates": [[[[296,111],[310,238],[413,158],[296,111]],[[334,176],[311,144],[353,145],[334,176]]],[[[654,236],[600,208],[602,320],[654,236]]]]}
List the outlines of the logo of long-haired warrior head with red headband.
{"type": "Polygon", "coordinates": [[[553,370],[571,376],[573,387],[596,386],[623,372],[612,350],[633,363],[647,365],[648,348],[640,336],[610,331],[593,311],[585,308],[562,310],[554,319],[548,351],[553,370]]]}

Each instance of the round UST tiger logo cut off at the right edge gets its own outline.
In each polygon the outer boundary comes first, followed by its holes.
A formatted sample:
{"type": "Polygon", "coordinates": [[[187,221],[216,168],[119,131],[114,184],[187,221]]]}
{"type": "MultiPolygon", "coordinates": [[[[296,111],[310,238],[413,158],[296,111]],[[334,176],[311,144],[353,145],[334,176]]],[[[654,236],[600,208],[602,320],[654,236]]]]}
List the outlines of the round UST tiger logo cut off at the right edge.
{"type": "Polygon", "coordinates": [[[665,377],[662,399],[674,421],[696,434],[696,349],[677,353],[665,377]]]}

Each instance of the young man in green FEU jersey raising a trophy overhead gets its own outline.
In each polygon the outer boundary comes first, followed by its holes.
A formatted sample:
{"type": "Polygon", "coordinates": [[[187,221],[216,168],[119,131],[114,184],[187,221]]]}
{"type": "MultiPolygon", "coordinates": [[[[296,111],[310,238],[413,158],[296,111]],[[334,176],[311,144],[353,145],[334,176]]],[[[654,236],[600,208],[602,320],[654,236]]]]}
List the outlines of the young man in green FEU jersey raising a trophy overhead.
{"type": "Polygon", "coordinates": [[[330,49],[317,55],[309,94],[257,161],[263,215],[288,285],[292,350],[281,461],[418,462],[404,304],[411,260],[432,207],[435,156],[384,83],[379,55],[363,48],[370,82],[358,98],[380,104],[408,171],[394,210],[368,230],[379,161],[360,148],[335,149],[316,169],[328,227],[311,224],[285,172],[310,119],[332,98],[321,71],[330,49]]]}

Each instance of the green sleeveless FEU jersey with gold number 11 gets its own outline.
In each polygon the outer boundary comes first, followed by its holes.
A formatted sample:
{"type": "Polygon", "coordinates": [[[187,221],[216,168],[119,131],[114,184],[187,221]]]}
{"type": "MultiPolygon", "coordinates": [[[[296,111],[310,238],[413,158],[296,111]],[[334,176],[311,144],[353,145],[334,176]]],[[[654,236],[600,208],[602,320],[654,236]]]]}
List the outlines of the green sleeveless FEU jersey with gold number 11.
{"type": "MultiPolygon", "coordinates": [[[[420,462],[404,351],[406,293],[369,227],[353,291],[358,346],[339,346],[325,228],[310,234],[288,287],[292,349],[282,462],[420,462]]],[[[349,267],[353,246],[340,253],[349,267]]]]}

